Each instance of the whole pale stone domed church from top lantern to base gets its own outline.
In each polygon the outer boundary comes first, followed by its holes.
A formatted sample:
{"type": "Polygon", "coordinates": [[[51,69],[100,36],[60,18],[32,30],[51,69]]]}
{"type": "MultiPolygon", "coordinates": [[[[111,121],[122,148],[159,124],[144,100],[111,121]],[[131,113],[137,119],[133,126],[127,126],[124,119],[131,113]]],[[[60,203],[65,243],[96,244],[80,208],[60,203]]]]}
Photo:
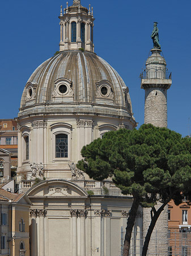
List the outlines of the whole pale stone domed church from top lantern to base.
{"type": "MultiPolygon", "coordinates": [[[[122,253],[132,197],[121,195],[111,179],[90,180],[76,167],[84,145],[137,126],[128,87],[94,53],[93,22],[92,10],[79,0],[61,7],[60,52],[32,73],[23,90],[17,181],[32,201],[32,256],[122,253]]],[[[142,216],[135,227],[142,230],[142,216]]]]}

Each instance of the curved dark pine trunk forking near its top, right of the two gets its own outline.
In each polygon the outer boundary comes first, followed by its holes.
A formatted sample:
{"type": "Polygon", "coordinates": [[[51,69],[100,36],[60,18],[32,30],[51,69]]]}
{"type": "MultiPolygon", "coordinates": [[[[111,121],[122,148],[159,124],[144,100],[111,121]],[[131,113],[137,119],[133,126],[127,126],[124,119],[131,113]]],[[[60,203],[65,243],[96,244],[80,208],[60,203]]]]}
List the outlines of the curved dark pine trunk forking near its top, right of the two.
{"type": "Polygon", "coordinates": [[[145,237],[145,242],[144,242],[143,250],[142,250],[142,256],[147,255],[148,244],[149,244],[150,239],[151,239],[152,231],[155,228],[155,224],[156,224],[156,221],[158,220],[158,218],[160,216],[160,213],[162,213],[162,211],[164,210],[165,205],[167,205],[168,202],[169,201],[165,201],[165,203],[162,204],[161,207],[158,210],[156,210],[154,207],[152,208],[154,215],[151,218],[151,223],[150,223],[150,226],[148,227],[148,230],[147,230],[147,234],[146,234],[146,237],[145,237]]]}

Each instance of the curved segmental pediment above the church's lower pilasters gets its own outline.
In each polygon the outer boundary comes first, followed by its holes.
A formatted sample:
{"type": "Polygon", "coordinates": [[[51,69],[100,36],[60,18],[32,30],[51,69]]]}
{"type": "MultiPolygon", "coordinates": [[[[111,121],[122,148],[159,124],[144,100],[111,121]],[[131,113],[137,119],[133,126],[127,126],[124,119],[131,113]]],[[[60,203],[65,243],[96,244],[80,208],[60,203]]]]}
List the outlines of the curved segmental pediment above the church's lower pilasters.
{"type": "Polygon", "coordinates": [[[88,196],[78,185],[66,180],[43,181],[27,192],[28,197],[79,197],[88,196]]]}

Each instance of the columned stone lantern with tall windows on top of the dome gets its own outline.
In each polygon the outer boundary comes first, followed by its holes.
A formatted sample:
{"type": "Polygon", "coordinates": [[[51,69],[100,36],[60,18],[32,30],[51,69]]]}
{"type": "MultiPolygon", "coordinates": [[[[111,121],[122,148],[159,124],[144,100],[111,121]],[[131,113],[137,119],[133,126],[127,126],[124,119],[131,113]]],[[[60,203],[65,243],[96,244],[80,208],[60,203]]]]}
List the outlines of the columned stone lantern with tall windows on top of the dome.
{"type": "Polygon", "coordinates": [[[60,13],[60,51],[84,49],[94,52],[93,7],[83,7],[80,0],[73,0],[73,5],[62,9],[60,13]]]}

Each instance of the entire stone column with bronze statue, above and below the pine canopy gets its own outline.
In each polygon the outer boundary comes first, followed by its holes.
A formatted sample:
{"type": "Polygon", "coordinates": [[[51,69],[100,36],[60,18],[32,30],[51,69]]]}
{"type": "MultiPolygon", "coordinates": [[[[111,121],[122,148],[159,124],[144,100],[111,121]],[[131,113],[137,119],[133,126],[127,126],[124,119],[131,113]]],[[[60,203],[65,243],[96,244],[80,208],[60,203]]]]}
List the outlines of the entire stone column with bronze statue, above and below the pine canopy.
{"type": "MultiPolygon", "coordinates": [[[[171,87],[171,73],[167,71],[166,62],[160,55],[159,29],[157,22],[151,34],[153,48],[146,61],[146,68],[141,73],[141,88],[145,89],[145,123],[158,127],[167,127],[167,90],[171,87]]],[[[155,205],[158,209],[160,203],[155,205]]],[[[143,208],[143,237],[146,236],[151,221],[151,208],[143,208]]],[[[160,214],[152,232],[148,253],[157,250],[160,255],[168,254],[168,207],[160,214]]]]}

